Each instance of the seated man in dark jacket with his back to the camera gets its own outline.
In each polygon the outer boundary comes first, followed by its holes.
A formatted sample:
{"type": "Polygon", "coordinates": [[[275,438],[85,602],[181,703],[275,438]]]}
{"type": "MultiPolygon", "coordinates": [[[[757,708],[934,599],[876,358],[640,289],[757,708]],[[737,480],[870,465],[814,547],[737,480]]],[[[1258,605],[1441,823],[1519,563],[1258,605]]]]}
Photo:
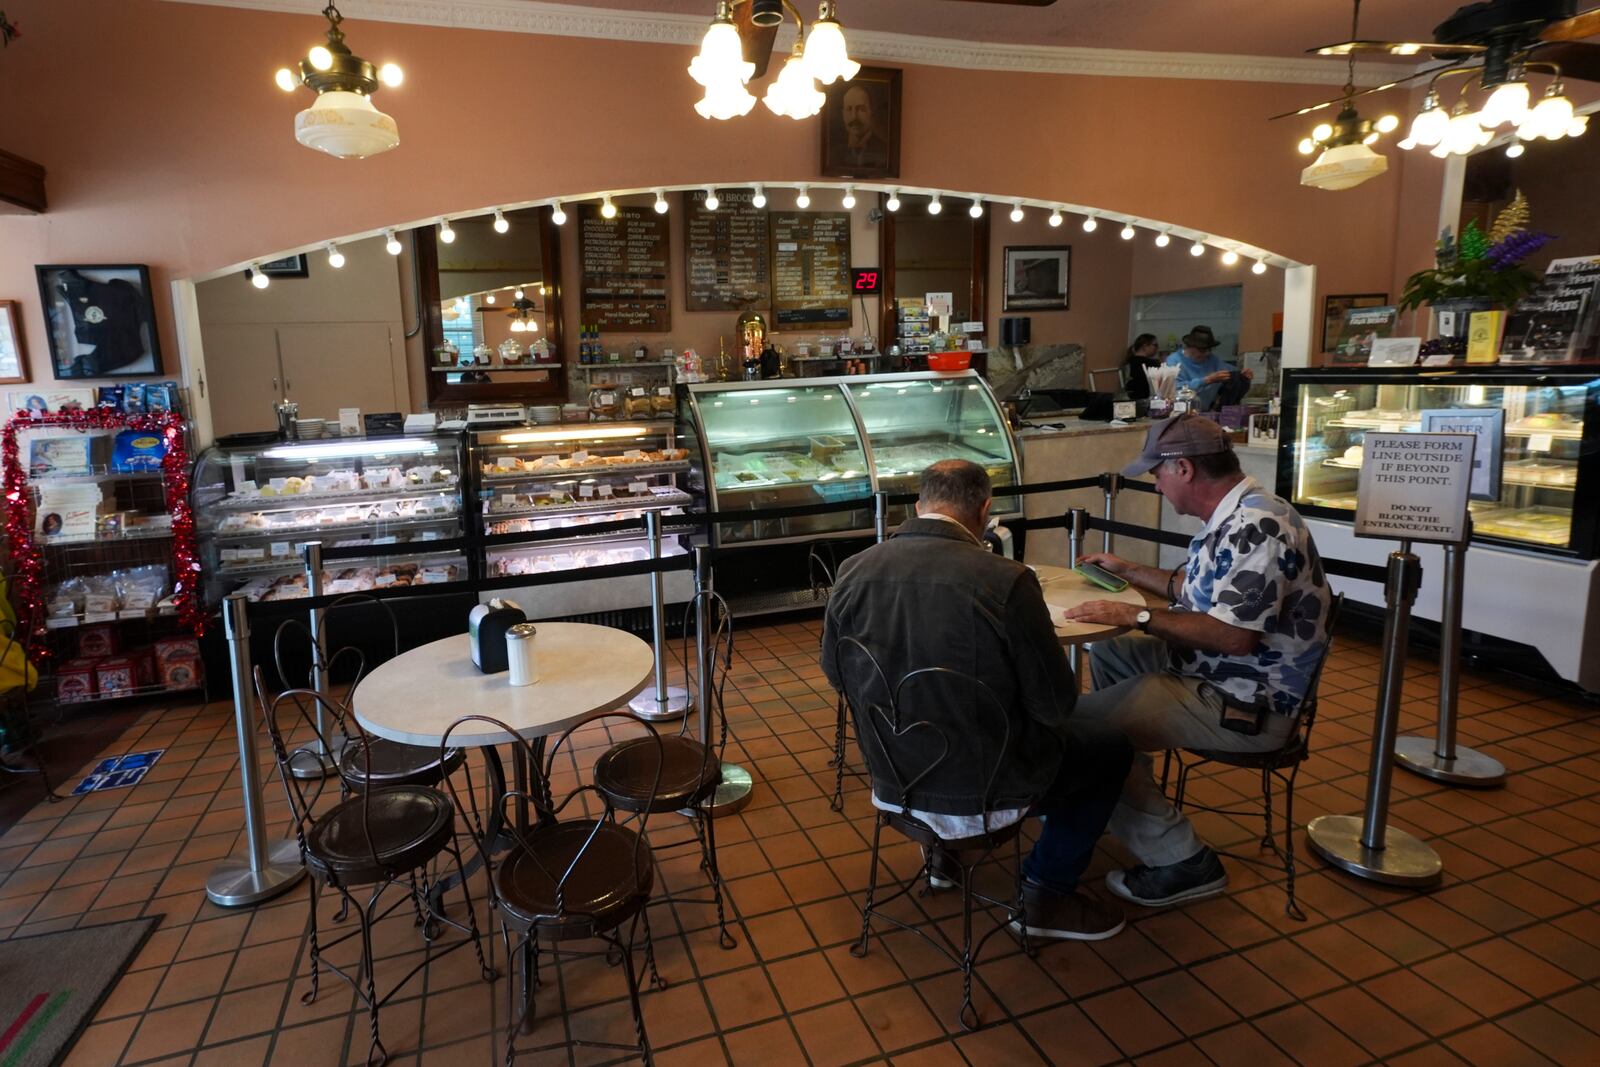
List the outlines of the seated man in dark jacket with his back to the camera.
{"type": "MultiPolygon", "coordinates": [[[[933,721],[952,742],[942,761],[930,752],[918,763],[936,766],[910,792],[909,814],[942,840],[1043,816],[1022,865],[1027,933],[1110,937],[1123,926],[1120,910],[1080,891],[1078,878],[1117,803],[1131,753],[1114,733],[1070,718],[1077,680],[1038,579],[984,547],[990,502],[989,475],[978,464],[947,459],[928,467],[917,518],[840,568],[822,629],[822,669],[840,691],[870,688],[861,673],[872,669],[866,657],[840,648],[853,637],[870,649],[891,686],[918,667],[949,667],[994,689],[1005,707],[1003,725],[949,691],[942,697],[933,691],[901,710],[910,720],[933,721]],[[998,771],[986,797],[974,785],[973,765],[995,757],[998,771]]],[[[882,768],[874,731],[858,723],[858,741],[869,768],[882,768]]],[[[931,736],[910,734],[899,744],[936,745],[931,736]]],[[[899,809],[899,798],[883,795],[883,787],[875,776],[874,805],[899,809]]],[[[931,870],[928,880],[949,885],[952,872],[931,870]]]]}

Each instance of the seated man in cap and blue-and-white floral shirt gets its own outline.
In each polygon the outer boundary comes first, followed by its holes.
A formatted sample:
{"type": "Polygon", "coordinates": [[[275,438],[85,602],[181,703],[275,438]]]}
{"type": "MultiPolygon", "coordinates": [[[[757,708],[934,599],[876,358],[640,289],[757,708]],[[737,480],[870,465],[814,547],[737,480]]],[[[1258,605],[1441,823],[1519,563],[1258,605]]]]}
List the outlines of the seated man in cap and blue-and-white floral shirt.
{"type": "Polygon", "coordinates": [[[1306,523],[1245,477],[1227,434],[1210,419],[1152,424],[1123,474],[1154,474],[1174,510],[1205,520],[1189,561],[1171,573],[1109,553],[1083,557],[1166,597],[1168,608],[1094,600],[1067,613],[1138,630],[1094,643],[1094,691],[1078,701],[1077,717],[1107,723],[1144,753],[1109,827],[1138,864],[1107,873],[1106,885],[1160,907],[1221,893],[1227,872],[1157,785],[1147,753],[1280,749],[1323,653],[1331,593],[1306,523]]]}

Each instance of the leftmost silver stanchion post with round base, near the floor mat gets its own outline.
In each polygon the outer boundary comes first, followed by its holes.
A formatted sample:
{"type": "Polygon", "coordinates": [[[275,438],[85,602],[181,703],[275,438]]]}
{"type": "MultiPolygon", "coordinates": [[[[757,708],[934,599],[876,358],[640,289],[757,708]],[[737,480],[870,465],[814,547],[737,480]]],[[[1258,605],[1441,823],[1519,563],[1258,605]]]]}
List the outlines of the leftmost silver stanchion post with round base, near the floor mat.
{"type": "Polygon", "coordinates": [[[250,601],[243,593],[222,600],[222,622],[234,669],[234,729],[238,734],[238,779],[245,793],[245,859],[227,859],[205,881],[205,894],[219,907],[259,904],[306,877],[296,841],[267,846],[261,808],[261,765],[256,761],[254,691],[250,670],[250,601]]]}

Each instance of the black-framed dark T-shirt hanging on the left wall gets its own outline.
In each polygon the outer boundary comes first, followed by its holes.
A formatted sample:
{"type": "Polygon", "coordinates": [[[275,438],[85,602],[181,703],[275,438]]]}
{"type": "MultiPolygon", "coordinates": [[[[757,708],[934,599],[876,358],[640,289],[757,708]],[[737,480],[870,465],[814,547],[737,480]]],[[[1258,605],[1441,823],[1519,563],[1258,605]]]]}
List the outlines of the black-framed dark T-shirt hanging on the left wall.
{"type": "Polygon", "coordinates": [[[144,264],[34,269],[56,379],[162,373],[162,339],[144,264]]]}

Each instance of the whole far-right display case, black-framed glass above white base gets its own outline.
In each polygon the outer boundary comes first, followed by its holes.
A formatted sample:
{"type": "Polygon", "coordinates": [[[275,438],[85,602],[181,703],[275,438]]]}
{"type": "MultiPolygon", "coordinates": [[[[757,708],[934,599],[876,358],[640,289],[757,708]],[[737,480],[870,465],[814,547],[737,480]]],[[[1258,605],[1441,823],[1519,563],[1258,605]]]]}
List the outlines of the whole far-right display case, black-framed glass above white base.
{"type": "MultiPolygon", "coordinates": [[[[1462,627],[1520,646],[1552,672],[1600,691],[1600,376],[1563,368],[1286,370],[1277,491],[1306,518],[1325,557],[1382,563],[1392,541],[1352,533],[1362,442],[1416,432],[1424,411],[1502,410],[1502,478],[1472,501],[1462,627]]],[[[1482,440],[1482,438],[1480,438],[1482,440]]],[[[1414,614],[1438,619],[1442,553],[1414,547],[1414,614]]],[[[1374,582],[1336,585],[1381,608],[1374,582]]],[[[1536,661],[1534,661],[1536,662],[1536,661]]]]}

